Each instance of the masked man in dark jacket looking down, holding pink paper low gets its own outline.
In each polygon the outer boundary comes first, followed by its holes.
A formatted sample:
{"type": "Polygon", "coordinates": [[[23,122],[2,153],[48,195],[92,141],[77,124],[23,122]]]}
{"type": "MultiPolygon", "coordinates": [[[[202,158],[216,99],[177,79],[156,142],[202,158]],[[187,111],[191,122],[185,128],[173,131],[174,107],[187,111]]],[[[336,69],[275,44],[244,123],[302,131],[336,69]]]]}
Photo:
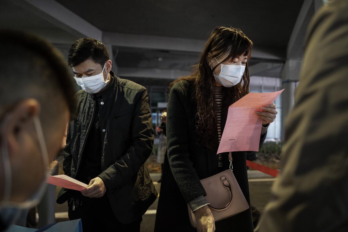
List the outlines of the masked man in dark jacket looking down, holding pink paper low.
{"type": "Polygon", "coordinates": [[[140,231],[142,215],[157,197],[144,166],[154,139],[147,90],[116,77],[96,39],[75,41],[68,63],[82,90],[63,167],[89,187],[62,189],[57,202],[68,201],[69,218],[81,218],[84,231],[140,231]]]}

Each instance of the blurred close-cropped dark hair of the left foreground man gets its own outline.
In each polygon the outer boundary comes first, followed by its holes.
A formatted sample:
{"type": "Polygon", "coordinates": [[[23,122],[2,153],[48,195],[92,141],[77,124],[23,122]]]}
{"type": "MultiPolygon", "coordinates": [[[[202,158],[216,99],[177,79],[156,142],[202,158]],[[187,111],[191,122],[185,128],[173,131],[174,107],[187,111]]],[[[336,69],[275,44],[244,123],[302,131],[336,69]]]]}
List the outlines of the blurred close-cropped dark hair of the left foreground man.
{"type": "Polygon", "coordinates": [[[67,107],[76,111],[72,77],[62,54],[35,35],[0,30],[0,111],[24,99],[34,98],[41,105],[40,118],[52,128],[55,117],[67,107]]]}

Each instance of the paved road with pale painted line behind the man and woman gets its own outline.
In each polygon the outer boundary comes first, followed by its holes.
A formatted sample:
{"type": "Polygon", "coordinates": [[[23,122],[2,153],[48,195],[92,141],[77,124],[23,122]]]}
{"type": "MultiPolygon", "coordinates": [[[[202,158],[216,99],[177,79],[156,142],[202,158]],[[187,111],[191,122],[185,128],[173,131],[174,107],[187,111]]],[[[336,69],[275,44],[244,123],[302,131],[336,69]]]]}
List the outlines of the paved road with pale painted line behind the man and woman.
{"type": "MultiPolygon", "coordinates": [[[[160,190],[160,184],[157,181],[160,178],[160,174],[150,174],[152,180],[155,182],[157,191],[160,190]]],[[[249,188],[250,188],[250,199],[251,204],[258,208],[261,212],[270,198],[270,187],[274,182],[274,178],[263,174],[259,171],[250,171],[249,177],[249,188]]],[[[58,192],[57,188],[57,192],[58,192]]],[[[141,232],[153,232],[153,226],[155,224],[156,208],[158,199],[149,208],[147,213],[143,216],[143,222],[141,224],[141,232]]],[[[56,204],[56,217],[57,221],[68,220],[68,206],[66,203],[63,205],[56,204]]]]}

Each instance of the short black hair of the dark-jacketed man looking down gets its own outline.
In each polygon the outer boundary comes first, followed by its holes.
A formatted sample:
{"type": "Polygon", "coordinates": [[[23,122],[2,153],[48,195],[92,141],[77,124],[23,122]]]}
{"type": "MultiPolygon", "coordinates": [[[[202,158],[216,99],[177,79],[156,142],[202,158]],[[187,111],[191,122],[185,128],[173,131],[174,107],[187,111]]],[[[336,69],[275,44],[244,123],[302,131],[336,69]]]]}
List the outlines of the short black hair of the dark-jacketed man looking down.
{"type": "Polygon", "coordinates": [[[75,67],[89,58],[102,67],[110,59],[108,49],[99,40],[93,38],[76,40],[69,49],[68,64],[75,67]]]}

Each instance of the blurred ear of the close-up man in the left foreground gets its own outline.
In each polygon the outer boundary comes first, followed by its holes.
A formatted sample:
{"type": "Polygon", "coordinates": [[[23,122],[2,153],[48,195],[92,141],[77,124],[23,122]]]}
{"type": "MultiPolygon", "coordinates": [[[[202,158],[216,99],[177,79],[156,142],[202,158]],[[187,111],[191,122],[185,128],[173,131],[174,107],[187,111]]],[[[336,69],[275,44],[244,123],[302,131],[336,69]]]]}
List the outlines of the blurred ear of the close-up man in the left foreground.
{"type": "Polygon", "coordinates": [[[11,112],[5,116],[6,120],[2,136],[7,144],[10,157],[18,155],[19,148],[26,141],[22,141],[21,133],[32,130],[33,118],[40,112],[40,103],[36,99],[26,99],[12,108],[11,112]]]}

